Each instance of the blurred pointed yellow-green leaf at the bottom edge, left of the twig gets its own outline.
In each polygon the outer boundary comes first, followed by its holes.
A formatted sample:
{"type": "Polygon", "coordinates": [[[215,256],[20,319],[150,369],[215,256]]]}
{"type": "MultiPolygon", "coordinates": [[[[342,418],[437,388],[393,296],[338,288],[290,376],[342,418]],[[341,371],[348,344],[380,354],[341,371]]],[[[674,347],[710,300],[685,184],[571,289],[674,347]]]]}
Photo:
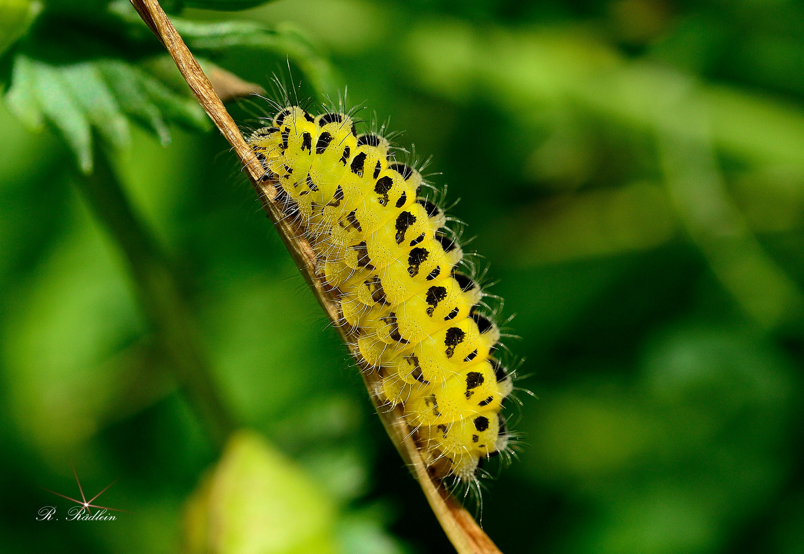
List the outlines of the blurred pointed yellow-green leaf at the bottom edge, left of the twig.
{"type": "Polygon", "coordinates": [[[185,522],[187,554],[335,552],[330,499],[252,432],[232,436],[185,522]]]}

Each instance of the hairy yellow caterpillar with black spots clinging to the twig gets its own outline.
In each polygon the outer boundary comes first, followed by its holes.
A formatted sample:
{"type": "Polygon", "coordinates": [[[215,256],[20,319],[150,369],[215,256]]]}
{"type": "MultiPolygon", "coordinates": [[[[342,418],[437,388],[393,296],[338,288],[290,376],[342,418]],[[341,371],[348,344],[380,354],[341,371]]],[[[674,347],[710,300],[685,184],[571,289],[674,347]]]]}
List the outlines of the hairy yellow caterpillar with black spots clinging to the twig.
{"type": "Polygon", "coordinates": [[[347,114],[290,106],[246,139],[318,251],[381,395],[402,404],[434,473],[474,482],[478,462],[508,447],[511,375],[492,357],[499,330],[478,311],[481,287],[456,271],[461,246],[420,196],[420,173],[388,140],[356,134],[347,114]]]}

